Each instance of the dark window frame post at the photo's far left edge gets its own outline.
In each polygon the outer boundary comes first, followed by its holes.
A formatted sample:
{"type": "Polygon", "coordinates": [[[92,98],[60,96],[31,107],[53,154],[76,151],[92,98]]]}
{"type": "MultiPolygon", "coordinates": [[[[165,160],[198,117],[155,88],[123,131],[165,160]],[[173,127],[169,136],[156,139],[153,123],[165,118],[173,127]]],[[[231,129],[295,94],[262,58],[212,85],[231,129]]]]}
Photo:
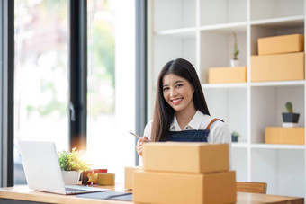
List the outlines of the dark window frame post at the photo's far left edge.
{"type": "Polygon", "coordinates": [[[14,186],[14,1],[0,1],[0,186],[14,186]]]}

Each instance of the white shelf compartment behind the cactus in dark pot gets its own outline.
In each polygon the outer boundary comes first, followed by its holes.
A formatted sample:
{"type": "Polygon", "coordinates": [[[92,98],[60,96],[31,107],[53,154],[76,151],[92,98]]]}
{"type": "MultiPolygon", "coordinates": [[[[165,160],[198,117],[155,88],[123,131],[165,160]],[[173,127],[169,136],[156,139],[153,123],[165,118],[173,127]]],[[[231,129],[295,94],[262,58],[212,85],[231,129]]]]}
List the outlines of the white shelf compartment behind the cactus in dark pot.
{"type": "Polygon", "coordinates": [[[266,127],[282,127],[282,112],[289,101],[293,103],[293,110],[300,113],[298,126],[304,127],[304,91],[303,86],[251,87],[251,144],[265,144],[266,127]]]}

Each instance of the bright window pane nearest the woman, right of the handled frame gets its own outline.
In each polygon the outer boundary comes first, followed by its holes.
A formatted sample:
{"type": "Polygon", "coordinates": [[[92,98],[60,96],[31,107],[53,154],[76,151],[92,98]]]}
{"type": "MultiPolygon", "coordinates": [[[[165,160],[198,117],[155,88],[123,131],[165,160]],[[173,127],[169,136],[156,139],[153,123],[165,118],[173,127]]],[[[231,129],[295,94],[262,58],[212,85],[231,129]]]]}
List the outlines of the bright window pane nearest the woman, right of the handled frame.
{"type": "Polygon", "coordinates": [[[134,0],[87,1],[87,154],[117,182],[135,163],[134,13],[134,0]]]}

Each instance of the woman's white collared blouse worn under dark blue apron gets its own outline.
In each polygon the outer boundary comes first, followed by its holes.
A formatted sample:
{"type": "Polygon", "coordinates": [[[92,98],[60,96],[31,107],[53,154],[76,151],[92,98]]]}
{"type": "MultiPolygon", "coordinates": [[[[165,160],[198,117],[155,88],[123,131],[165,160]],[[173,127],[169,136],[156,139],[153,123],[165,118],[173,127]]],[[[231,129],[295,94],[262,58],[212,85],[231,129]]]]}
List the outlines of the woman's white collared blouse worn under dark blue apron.
{"type": "MultiPolygon", "coordinates": [[[[192,129],[206,129],[208,124],[213,120],[214,118],[203,114],[201,111],[196,111],[193,119],[190,120],[190,122],[184,127],[184,129],[181,129],[178,125],[176,116],[170,125],[170,131],[182,131],[182,130],[192,130],[192,129]]],[[[146,128],[144,130],[144,137],[148,137],[151,139],[151,129],[152,129],[152,122],[153,120],[150,120],[148,124],[146,125],[146,128]]],[[[228,126],[220,121],[216,120],[211,124],[210,133],[207,137],[208,143],[228,143],[229,144],[229,166],[231,164],[231,134],[228,129],[228,126]]],[[[142,165],[142,157],[139,156],[139,165],[142,165]]]]}

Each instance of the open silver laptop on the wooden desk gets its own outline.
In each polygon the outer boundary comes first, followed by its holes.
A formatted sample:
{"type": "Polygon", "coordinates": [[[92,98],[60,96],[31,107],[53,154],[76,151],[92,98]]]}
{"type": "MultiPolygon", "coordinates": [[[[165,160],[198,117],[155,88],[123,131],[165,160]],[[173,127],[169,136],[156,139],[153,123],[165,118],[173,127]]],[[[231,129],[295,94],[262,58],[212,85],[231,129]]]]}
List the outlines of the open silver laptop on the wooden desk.
{"type": "Polygon", "coordinates": [[[19,146],[30,189],[66,195],[109,191],[81,185],[65,186],[54,142],[20,141],[19,146]]]}

